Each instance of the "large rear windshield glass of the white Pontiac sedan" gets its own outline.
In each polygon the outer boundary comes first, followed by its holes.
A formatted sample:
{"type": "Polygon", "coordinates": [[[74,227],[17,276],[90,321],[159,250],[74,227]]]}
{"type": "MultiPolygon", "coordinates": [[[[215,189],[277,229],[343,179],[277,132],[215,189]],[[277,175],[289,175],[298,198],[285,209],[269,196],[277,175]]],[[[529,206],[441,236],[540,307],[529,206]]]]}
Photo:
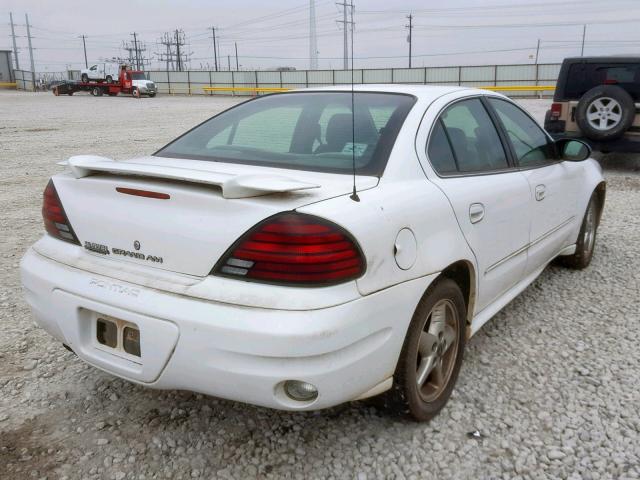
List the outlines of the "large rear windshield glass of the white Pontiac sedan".
{"type": "Polygon", "coordinates": [[[415,98],[392,93],[267,95],[207,120],[155,155],[335,173],[382,174],[415,98]],[[355,138],[352,130],[355,124],[355,138]]]}

